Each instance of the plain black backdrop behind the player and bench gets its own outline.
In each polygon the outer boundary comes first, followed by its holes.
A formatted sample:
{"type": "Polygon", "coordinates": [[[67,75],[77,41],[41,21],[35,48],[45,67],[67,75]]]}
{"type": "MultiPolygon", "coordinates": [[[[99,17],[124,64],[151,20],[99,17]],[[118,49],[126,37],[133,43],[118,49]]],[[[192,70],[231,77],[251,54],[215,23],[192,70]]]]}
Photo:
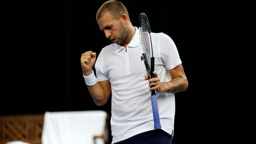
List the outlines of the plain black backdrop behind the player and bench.
{"type": "MultiPolygon", "coordinates": [[[[82,53],[99,54],[111,44],[95,20],[103,2],[3,5],[0,115],[111,112],[111,97],[104,106],[94,104],[80,65],[82,53]]],[[[144,12],[152,32],[168,34],[178,48],[189,87],[175,94],[173,143],[256,143],[252,3],[121,2],[134,26],[144,12]]]]}

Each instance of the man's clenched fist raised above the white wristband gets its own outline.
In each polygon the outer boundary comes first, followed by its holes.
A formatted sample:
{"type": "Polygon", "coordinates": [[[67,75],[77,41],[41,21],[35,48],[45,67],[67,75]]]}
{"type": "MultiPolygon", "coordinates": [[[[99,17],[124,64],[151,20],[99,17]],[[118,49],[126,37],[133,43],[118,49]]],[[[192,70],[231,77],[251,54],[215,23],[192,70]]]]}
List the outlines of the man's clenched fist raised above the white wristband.
{"type": "Polygon", "coordinates": [[[80,62],[83,70],[83,74],[88,76],[92,74],[92,66],[96,61],[96,53],[92,51],[87,51],[82,54],[80,62]]]}

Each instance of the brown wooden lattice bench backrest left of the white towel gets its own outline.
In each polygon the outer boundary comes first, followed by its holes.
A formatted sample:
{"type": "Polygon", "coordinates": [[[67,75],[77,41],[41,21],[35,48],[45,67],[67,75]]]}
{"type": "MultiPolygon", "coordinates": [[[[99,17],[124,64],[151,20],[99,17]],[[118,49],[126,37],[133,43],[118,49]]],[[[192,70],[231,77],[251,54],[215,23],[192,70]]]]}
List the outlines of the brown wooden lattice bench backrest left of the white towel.
{"type": "Polygon", "coordinates": [[[44,114],[0,116],[0,144],[24,141],[41,144],[44,114]]]}

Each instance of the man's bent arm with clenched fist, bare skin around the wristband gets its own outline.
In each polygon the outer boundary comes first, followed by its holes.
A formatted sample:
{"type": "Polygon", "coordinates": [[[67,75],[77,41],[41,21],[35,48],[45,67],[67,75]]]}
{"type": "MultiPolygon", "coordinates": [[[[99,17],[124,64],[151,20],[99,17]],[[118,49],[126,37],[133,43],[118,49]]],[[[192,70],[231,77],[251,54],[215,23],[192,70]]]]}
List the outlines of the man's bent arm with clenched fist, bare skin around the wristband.
{"type": "MultiPolygon", "coordinates": [[[[96,61],[96,53],[92,51],[88,51],[82,54],[80,62],[82,66],[82,71],[84,76],[92,76],[93,81],[96,81],[96,77],[92,71],[92,66],[96,61]],[[91,75],[92,74],[92,75],[91,75]]],[[[94,84],[94,83],[93,83],[94,84]]],[[[111,91],[111,84],[109,80],[96,82],[92,86],[87,85],[87,88],[93,98],[93,101],[97,106],[104,105],[109,97],[111,91]]]]}

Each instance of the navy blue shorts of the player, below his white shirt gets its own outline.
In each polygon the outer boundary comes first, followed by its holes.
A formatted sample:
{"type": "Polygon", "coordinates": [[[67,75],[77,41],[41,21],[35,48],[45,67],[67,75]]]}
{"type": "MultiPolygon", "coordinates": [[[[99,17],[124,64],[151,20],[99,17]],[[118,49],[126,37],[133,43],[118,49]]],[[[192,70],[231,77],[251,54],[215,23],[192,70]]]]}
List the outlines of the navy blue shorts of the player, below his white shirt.
{"type": "Polygon", "coordinates": [[[156,129],[137,134],[115,144],[172,144],[172,136],[162,129],[156,129]]]}

